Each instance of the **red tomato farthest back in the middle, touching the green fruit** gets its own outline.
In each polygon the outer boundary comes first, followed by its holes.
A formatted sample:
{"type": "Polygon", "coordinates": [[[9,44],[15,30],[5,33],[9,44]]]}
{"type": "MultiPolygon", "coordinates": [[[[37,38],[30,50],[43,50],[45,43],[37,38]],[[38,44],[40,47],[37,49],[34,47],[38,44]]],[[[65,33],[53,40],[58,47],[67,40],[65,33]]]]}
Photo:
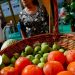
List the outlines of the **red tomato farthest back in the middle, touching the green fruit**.
{"type": "Polygon", "coordinates": [[[60,51],[52,51],[48,55],[48,61],[59,61],[60,63],[64,64],[66,57],[60,51]]]}

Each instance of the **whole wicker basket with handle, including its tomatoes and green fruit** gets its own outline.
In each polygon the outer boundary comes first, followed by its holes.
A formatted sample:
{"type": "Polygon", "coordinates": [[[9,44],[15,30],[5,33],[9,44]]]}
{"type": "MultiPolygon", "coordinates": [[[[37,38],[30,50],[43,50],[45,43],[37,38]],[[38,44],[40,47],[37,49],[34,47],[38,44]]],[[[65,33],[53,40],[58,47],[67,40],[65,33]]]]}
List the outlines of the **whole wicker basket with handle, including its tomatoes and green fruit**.
{"type": "Polygon", "coordinates": [[[0,55],[4,59],[1,63],[5,66],[1,67],[1,74],[75,75],[75,34],[59,34],[57,1],[51,0],[51,3],[54,11],[53,33],[14,41],[13,45],[2,49],[0,55]]]}

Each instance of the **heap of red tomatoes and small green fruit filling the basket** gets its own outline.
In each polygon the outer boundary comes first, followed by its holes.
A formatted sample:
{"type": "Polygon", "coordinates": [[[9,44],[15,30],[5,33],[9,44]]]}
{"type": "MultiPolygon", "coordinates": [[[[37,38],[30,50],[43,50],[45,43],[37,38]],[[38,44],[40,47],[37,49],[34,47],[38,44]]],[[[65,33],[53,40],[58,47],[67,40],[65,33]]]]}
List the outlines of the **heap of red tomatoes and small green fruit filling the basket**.
{"type": "Polygon", "coordinates": [[[75,50],[54,42],[26,45],[13,57],[0,56],[0,75],[75,75],[75,50]]]}

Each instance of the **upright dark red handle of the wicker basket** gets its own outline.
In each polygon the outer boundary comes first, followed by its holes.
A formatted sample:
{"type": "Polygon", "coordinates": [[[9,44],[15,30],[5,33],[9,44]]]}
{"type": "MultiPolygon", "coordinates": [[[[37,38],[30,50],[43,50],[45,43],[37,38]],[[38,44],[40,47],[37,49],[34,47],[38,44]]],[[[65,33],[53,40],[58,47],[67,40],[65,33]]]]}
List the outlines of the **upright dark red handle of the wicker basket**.
{"type": "MultiPolygon", "coordinates": [[[[52,29],[50,28],[50,33],[53,32],[54,34],[58,34],[59,30],[58,30],[58,4],[57,4],[57,0],[50,0],[51,3],[53,4],[53,18],[54,18],[54,31],[51,31],[52,29]]],[[[50,27],[52,27],[51,25],[49,25],[50,27]]]]}

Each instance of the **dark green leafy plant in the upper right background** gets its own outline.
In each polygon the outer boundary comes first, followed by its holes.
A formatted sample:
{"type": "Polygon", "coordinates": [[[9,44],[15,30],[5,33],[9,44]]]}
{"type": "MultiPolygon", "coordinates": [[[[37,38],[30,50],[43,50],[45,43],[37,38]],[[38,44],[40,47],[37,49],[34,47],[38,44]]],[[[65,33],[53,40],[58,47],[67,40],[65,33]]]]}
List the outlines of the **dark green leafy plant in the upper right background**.
{"type": "Polygon", "coordinates": [[[70,2],[64,0],[63,6],[66,9],[66,16],[64,18],[64,21],[66,23],[71,24],[71,29],[74,32],[75,31],[75,0],[70,0],[70,2]]]}

